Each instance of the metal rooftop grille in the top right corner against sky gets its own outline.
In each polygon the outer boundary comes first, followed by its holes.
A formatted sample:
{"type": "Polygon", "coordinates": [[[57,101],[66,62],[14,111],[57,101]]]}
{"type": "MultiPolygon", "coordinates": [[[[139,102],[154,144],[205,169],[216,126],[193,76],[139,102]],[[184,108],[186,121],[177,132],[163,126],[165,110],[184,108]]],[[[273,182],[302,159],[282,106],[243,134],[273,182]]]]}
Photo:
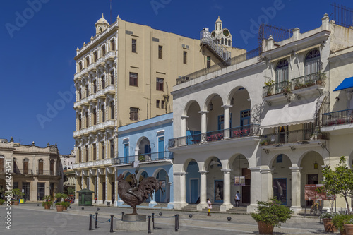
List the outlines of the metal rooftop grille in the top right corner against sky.
{"type": "Polygon", "coordinates": [[[347,6],[333,3],[332,6],[332,19],[335,20],[336,25],[343,27],[353,26],[353,9],[347,6]]]}

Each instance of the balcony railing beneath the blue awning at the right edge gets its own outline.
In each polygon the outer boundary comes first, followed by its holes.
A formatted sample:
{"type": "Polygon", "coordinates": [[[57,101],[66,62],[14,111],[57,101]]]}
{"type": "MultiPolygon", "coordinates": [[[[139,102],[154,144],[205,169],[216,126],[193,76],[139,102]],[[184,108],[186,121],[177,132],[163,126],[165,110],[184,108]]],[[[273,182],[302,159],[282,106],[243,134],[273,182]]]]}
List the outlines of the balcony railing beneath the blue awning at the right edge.
{"type": "Polygon", "coordinates": [[[321,114],[321,126],[337,126],[353,123],[353,109],[321,114]]]}

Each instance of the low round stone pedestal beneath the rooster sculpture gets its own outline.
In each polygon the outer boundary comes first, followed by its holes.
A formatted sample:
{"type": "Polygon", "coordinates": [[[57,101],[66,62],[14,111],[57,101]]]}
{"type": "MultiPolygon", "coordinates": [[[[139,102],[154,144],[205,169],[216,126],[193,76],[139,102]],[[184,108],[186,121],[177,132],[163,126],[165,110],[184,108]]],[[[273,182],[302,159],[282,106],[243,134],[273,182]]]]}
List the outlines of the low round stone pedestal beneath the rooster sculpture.
{"type": "MultiPolygon", "coordinates": [[[[152,219],[150,229],[153,230],[152,219]]],[[[116,230],[147,232],[148,219],[146,219],[146,215],[123,215],[122,221],[116,221],[116,230]]]]}

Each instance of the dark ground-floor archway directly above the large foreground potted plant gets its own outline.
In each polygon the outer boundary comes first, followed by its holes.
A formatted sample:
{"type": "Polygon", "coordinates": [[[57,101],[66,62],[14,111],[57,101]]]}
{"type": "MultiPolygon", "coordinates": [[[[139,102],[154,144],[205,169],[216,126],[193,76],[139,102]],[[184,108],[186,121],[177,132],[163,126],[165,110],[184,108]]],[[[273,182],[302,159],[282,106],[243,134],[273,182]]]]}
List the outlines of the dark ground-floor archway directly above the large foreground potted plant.
{"type": "Polygon", "coordinates": [[[292,205],[292,172],[289,169],[292,162],[284,154],[277,155],[273,159],[273,197],[281,201],[282,205],[292,205]]]}

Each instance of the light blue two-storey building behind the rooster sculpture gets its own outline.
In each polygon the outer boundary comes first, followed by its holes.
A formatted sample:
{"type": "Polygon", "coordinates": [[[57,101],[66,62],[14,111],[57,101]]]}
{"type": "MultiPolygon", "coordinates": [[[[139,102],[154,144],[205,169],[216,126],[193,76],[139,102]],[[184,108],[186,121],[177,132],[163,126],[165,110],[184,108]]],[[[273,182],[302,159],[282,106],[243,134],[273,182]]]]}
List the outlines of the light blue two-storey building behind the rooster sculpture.
{"type": "MultiPolygon", "coordinates": [[[[173,208],[173,153],[168,150],[168,140],[173,138],[173,114],[164,114],[118,128],[118,158],[114,159],[116,176],[124,174],[126,181],[131,174],[136,179],[153,176],[162,186],[140,207],[173,208]]],[[[125,206],[119,198],[117,206],[125,206]]],[[[128,205],[126,205],[129,207],[128,205]]]]}

